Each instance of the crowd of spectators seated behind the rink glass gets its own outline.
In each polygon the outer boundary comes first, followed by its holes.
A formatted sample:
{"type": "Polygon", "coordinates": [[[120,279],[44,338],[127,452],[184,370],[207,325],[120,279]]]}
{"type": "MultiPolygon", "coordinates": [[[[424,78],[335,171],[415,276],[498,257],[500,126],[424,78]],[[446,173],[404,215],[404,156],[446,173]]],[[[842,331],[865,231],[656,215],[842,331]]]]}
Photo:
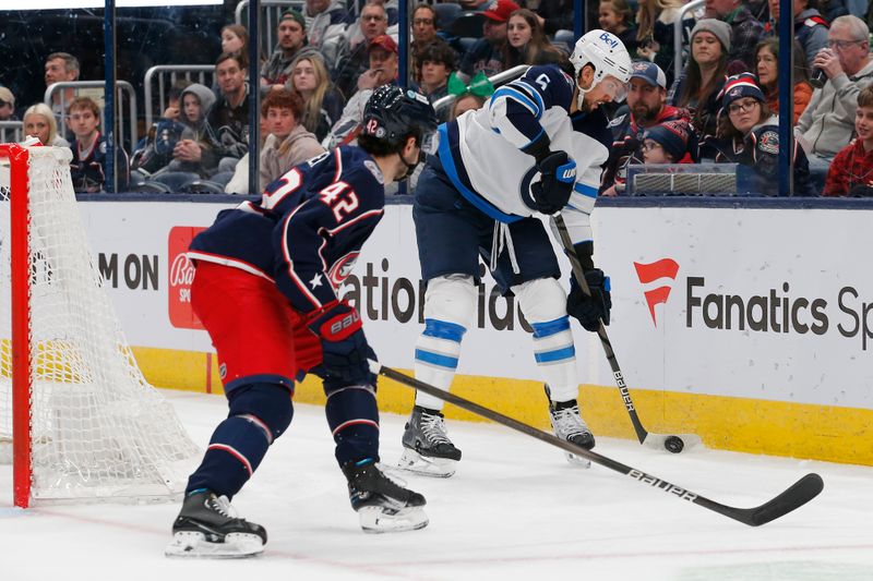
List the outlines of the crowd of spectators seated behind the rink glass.
{"type": "MultiPolygon", "coordinates": [[[[634,59],[625,102],[607,102],[613,145],[600,195],[631,193],[634,166],[737,164],[749,191],[778,193],[778,33],[793,33],[794,195],[873,195],[873,58],[861,0],[601,0],[589,28],[617,35],[634,59]],[[674,53],[681,31],[681,53],[674,53]]],[[[572,74],[572,0],[465,0],[409,11],[407,84],[438,104],[441,121],[482,107],[493,76],[518,65],[554,64],[572,74]],[[459,23],[475,23],[459,26],[459,23]]],[[[354,143],[364,105],[382,85],[400,84],[397,0],[306,0],[282,12],[275,47],[248,62],[240,25],[220,32],[214,86],[177,82],[160,117],[130,152],[120,152],[119,187],[248,194],[249,147],[259,135],[259,174],[267,183],[306,159],[354,143]],[[248,84],[256,66],[258,87],[248,84]],[[256,90],[260,128],[249,126],[256,90]]],[[[216,45],[217,46],[217,45],[216,45]]],[[[179,64],[183,64],[180,62],[179,64]]],[[[75,56],[45,59],[45,82],[80,78],[75,56]]],[[[499,84],[499,83],[497,83],[499,84]]],[[[105,191],[100,106],[74,88],[51,102],[21,104],[0,86],[0,122],[21,120],[44,145],[70,147],[77,192],[105,191]],[[21,114],[21,118],[16,117],[21,114]]],[[[638,171],[638,170],[636,170],[638,171]]],[[[705,171],[705,169],[701,170],[705,171]]]]}

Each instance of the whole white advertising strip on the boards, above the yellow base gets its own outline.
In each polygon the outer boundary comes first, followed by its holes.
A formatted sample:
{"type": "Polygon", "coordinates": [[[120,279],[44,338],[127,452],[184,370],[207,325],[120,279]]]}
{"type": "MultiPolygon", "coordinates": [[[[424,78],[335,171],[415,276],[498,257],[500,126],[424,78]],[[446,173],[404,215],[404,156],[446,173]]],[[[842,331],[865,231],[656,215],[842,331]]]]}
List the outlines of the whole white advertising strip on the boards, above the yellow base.
{"type": "MultiPolygon", "coordinates": [[[[230,204],[81,204],[132,346],[211,351],[190,310],[187,244],[230,204]]],[[[631,386],[873,408],[873,246],[863,210],[599,208],[596,262],[612,278],[609,334],[631,386]],[[824,234],[823,234],[824,233],[824,234]]],[[[561,257],[569,277],[569,264],[561,257]]],[[[482,271],[485,267],[482,267],[482,271]]],[[[410,368],[423,285],[410,207],[391,205],[342,292],[386,365],[410,368]]],[[[231,307],[231,305],[229,305],[231,307]]],[[[485,275],[458,373],[536,379],[518,305],[485,275]]],[[[578,329],[585,383],[613,386],[578,329]]]]}

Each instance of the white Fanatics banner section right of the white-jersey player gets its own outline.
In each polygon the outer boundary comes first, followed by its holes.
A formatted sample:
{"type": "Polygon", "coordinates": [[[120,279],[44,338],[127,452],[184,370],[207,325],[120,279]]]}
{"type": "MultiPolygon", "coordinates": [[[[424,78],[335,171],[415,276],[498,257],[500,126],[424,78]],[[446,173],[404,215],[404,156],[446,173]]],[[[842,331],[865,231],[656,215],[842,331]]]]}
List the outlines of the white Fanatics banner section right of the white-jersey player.
{"type": "Polygon", "coordinates": [[[595,214],[631,385],[873,409],[869,211],[595,214]]]}

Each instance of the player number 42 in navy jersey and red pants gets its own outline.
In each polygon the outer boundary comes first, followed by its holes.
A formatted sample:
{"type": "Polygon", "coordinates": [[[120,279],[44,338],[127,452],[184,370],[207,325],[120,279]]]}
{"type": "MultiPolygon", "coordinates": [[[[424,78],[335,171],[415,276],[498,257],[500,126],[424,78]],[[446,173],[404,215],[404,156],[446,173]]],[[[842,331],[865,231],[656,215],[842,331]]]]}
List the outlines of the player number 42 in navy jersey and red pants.
{"type": "Polygon", "coordinates": [[[216,348],[230,411],[190,476],[170,556],[260,553],[263,526],[230,499],[291,422],[294,382],[323,379],[325,413],[352,508],[366,532],[420,529],[424,498],[386,477],[379,461],[374,359],[358,312],[337,296],[383,215],[385,184],[406,179],[435,144],[423,95],[376,89],[358,147],[310,159],[270,184],[260,203],[218,214],[193,240],[194,313],[216,348]]]}

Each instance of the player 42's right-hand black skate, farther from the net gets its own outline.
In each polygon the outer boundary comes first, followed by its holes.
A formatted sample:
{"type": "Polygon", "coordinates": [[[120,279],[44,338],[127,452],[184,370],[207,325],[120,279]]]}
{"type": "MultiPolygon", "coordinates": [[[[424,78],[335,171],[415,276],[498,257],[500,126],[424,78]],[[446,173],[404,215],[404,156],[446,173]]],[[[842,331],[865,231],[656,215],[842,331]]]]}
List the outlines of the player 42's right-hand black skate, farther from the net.
{"type": "Polygon", "coordinates": [[[386,476],[371,460],[343,467],[348,495],[366,533],[415,531],[428,525],[424,497],[386,476]]]}

